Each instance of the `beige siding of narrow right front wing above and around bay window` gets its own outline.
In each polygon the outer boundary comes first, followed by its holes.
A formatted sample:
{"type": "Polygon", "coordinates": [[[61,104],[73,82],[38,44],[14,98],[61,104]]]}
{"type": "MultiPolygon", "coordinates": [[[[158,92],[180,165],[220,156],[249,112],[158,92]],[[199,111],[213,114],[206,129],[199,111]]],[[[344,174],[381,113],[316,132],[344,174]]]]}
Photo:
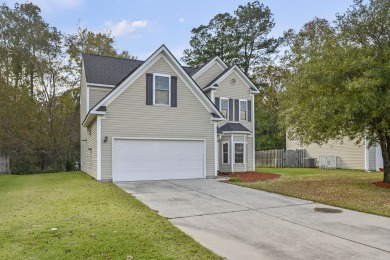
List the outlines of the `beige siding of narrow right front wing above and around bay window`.
{"type": "MultiPolygon", "coordinates": [[[[231,99],[243,99],[243,100],[250,100],[252,102],[252,107],[254,106],[253,100],[252,100],[252,94],[250,93],[250,89],[248,86],[241,80],[241,78],[238,76],[238,74],[235,71],[230,72],[230,75],[228,75],[224,80],[222,80],[218,84],[218,89],[215,91],[215,97],[224,97],[224,98],[231,98],[231,99]],[[230,84],[230,80],[235,78],[236,83],[234,85],[230,84]]],[[[233,101],[233,115],[235,111],[235,103],[233,101]]],[[[247,111],[248,116],[248,111],[247,111]]],[[[254,118],[254,115],[252,115],[252,118],[254,118]]],[[[252,133],[254,132],[254,120],[252,122],[248,122],[248,119],[245,121],[222,121],[218,122],[218,127],[221,127],[222,125],[232,122],[232,123],[240,123],[246,128],[249,129],[252,133]]],[[[230,135],[225,135],[223,137],[223,140],[227,138],[227,140],[230,140],[230,135]]],[[[234,134],[233,139],[234,142],[242,141],[243,135],[234,134]],[[239,139],[241,138],[241,139],[239,139]]],[[[222,144],[221,144],[222,148],[222,144]]],[[[254,153],[254,147],[253,147],[253,136],[247,135],[246,137],[246,158],[247,158],[247,171],[253,171],[253,153],[254,153]]],[[[222,162],[222,161],[220,161],[222,162]]],[[[221,171],[225,171],[226,168],[230,171],[230,165],[222,165],[220,163],[221,171]]],[[[243,164],[235,164],[234,165],[234,171],[244,171],[245,167],[243,164]]]]}

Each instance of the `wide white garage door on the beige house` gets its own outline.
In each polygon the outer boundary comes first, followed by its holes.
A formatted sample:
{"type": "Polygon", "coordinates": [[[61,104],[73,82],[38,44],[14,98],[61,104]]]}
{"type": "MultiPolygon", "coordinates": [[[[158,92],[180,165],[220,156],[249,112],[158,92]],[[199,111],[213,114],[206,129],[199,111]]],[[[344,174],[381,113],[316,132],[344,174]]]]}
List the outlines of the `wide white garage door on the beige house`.
{"type": "Polygon", "coordinates": [[[204,178],[204,141],[114,139],[113,181],[204,178]]]}

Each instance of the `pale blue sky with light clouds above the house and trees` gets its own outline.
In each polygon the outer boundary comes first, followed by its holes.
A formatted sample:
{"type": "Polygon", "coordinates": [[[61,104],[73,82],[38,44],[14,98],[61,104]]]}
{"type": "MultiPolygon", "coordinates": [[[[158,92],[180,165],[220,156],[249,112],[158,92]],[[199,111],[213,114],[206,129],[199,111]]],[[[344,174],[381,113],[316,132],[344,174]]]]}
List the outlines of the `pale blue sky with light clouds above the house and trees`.
{"type": "MultiPolygon", "coordinates": [[[[5,0],[13,6],[14,1],[5,0]]],[[[111,30],[116,48],[128,50],[138,59],[146,59],[165,44],[176,58],[189,48],[191,29],[207,24],[218,13],[229,12],[245,5],[239,0],[30,0],[42,10],[51,26],[64,33],[82,26],[94,31],[111,30]]],[[[273,36],[288,29],[299,30],[315,16],[334,20],[344,13],[352,0],[263,0],[274,14],[273,36]]]]}

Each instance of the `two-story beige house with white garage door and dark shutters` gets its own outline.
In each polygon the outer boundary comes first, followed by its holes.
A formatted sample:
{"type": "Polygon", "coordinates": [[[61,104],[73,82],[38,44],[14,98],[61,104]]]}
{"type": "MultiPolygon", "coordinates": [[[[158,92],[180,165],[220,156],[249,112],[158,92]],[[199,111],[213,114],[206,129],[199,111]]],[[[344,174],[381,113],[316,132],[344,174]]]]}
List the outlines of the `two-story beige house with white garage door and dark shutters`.
{"type": "Polygon", "coordinates": [[[81,170],[97,180],[213,178],[254,170],[256,87],[215,58],[181,66],[83,54],[81,170]]]}

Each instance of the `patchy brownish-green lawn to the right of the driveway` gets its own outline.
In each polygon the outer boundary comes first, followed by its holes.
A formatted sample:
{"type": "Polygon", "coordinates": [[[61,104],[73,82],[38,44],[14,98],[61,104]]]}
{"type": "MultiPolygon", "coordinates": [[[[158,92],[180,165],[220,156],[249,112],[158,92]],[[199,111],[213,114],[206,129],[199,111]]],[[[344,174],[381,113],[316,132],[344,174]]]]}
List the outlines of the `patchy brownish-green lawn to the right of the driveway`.
{"type": "Polygon", "coordinates": [[[372,185],[383,173],[357,170],[257,168],[281,174],[275,180],[239,185],[390,217],[390,189],[372,185]]]}

